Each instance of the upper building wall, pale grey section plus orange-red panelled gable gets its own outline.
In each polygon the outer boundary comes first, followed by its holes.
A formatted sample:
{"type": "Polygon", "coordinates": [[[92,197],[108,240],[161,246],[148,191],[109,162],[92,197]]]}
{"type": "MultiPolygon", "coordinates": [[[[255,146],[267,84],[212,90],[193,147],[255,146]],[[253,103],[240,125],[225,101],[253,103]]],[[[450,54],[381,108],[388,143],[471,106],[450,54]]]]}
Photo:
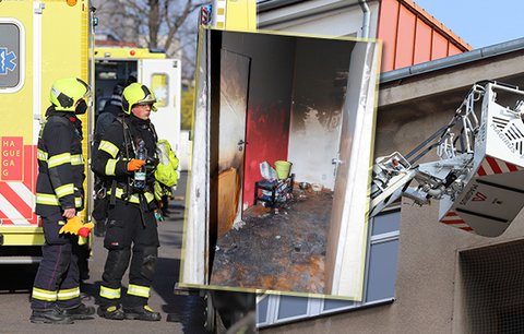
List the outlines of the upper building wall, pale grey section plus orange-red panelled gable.
{"type": "MultiPolygon", "coordinates": [[[[468,51],[472,47],[412,0],[368,0],[369,38],[382,40],[381,71],[468,51]]],[[[357,0],[307,1],[259,10],[259,28],[362,37],[357,0]]]]}

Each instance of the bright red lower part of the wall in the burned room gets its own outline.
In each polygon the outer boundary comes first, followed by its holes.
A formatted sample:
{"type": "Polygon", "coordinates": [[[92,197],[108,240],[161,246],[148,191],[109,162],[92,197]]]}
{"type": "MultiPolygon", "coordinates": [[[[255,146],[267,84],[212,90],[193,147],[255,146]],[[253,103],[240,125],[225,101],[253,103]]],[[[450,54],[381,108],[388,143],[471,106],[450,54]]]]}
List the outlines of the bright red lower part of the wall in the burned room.
{"type": "Polygon", "coordinates": [[[248,108],[242,203],[253,205],[254,182],[262,179],[260,163],[267,162],[275,167],[276,160],[287,159],[289,115],[289,105],[255,104],[248,108]]]}

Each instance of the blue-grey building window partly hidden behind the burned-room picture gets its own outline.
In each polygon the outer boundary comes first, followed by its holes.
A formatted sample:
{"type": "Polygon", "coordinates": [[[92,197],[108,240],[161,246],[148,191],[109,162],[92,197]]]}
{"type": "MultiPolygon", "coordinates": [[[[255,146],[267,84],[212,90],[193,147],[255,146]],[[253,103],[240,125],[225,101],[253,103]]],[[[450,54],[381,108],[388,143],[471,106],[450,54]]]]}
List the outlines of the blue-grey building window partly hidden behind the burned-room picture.
{"type": "Polygon", "coordinates": [[[259,327],[332,312],[389,302],[394,298],[401,211],[391,210],[372,218],[366,261],[364,301],[278,295],[259,296],[259,327]]]}

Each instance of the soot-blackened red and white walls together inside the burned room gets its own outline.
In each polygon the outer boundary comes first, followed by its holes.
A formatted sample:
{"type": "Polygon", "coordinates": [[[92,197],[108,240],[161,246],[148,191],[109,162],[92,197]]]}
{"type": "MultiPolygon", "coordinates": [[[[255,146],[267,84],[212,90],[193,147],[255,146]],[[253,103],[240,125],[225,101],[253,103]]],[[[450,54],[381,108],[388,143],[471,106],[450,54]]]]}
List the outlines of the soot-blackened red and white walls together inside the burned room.
{"type": "Polygon", "coordinates": [[[296,180],[334,187],[344,94],[355,43],[223,33],[223,48],[251,58],[242,202],[252,204],[260,163],[287,159],[296,180]]]}

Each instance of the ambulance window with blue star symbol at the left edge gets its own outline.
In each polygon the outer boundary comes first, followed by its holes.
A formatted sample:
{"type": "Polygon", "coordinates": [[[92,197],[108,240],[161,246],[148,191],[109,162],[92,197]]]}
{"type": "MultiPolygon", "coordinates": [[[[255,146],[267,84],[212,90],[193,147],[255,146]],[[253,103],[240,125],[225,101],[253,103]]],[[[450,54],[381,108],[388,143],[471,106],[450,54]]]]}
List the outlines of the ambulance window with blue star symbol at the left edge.
{"type": "Polygon", "coordinates": [[[0,93],[19,91],[24,80],[24,31],[12,19],[0,19],[0,93]]]}

